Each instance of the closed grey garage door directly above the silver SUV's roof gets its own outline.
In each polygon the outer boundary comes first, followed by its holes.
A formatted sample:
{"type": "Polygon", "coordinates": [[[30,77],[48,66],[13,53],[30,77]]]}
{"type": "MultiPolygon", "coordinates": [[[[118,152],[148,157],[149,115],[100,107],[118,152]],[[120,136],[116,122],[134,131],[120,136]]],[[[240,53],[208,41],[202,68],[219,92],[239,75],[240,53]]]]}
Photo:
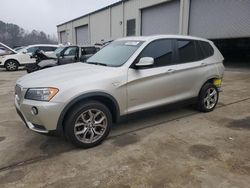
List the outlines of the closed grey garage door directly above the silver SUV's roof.
{"type": "Polygon", "coordinates": [[[142,9],[141,13],[142,35],[179,33],[179,0],[142,9]]]}

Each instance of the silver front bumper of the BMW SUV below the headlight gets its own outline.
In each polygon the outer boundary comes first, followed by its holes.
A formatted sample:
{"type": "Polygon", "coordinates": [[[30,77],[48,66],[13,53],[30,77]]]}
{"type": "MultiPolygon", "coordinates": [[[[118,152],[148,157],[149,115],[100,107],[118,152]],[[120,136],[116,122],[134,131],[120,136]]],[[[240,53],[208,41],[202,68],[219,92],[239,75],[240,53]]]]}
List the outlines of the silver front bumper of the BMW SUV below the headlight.
{"type": "Polygon", "coordinates": [[[41,102],[32,100],[19,100],[15,97],[15,106],[18,115],[25,125],[32,131],[48,133],[57,129],[57,122],[63,109],[63,104],[53,102],[41,102]],[[38,111],[32,112],[32,107],[38,111]]]}

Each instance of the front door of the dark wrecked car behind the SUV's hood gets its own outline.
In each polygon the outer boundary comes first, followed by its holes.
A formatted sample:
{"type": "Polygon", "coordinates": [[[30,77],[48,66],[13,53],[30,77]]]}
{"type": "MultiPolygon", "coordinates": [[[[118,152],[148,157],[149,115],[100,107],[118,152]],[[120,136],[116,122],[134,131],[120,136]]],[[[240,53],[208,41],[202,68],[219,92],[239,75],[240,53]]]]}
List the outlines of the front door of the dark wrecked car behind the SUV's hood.
{"type": "Polygon", "coordinates": [[[66,48],[58,59],[59,65],[74,63],[78,60],[79,48],[77,46],[70,46],[66,48]]]}

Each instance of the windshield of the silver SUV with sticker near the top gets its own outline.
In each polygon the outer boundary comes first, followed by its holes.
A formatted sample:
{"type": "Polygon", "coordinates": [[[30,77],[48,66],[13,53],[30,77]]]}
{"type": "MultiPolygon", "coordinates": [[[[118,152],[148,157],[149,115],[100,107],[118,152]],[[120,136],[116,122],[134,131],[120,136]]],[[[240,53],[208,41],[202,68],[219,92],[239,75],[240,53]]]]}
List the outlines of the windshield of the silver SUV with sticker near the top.
{"type": "Polygon", "coordinates": [[[144,41],[114,41],[87,60],[89,64],[119,67],[135,53],[144,41]]]}

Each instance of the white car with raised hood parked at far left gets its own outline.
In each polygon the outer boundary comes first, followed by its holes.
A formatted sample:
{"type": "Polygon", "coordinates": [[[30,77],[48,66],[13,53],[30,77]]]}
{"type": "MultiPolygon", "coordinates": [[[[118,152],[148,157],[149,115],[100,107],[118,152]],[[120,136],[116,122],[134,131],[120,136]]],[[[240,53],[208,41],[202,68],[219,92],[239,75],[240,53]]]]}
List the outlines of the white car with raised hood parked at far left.
{"type": "Polygon", "coordinates": [[[10,51],[10,53],[0,56],[0,68],[5,68],[7,71],[16,71],[19,67],[35,63],[36,59],[31,58],[30,56],[36,50],[43,50],[45,53],[51,54],[58,47],[58,45],[37,44],[24,47],[20,51],[16,52],[2,43],[0,43],[0,45],[10,51]]]}

